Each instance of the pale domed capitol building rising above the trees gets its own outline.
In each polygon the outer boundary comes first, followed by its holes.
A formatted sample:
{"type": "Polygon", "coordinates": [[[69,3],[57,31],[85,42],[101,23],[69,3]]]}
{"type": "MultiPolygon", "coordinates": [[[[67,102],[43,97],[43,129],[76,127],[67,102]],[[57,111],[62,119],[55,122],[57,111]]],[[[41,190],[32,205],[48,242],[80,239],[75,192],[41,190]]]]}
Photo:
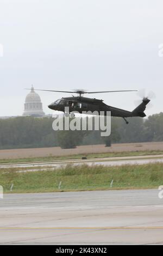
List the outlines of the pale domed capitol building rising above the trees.
{"type": "Polygon", "coordinates": [[[40,96],[35,93],[33,86],[30,93],[26,96],[23,115],[31,115],[33,117],[43,117],[43,115],[45,115],[40,96]]]}

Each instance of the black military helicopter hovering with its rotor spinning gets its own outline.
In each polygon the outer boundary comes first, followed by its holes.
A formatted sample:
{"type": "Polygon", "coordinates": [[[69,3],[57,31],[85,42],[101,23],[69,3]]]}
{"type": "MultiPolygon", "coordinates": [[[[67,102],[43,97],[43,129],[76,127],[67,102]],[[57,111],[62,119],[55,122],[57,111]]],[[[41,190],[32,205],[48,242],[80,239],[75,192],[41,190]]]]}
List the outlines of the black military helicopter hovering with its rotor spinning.
{"type": "MultiPolygon", "coordinates": [[[[65,107],[69,107],[69,113],[68,114],[74,114],[74,112],[81,113],[87,112],[87,111],[97,111],[99,114],[100,112],[104,112],[104,115],[106,115],[107,111],[111,112],[112,117],[122,117],[126,124],[129,122],[126,118],[129,117],[146,117],[146,114],[144,113],[147,104],[151,101],[148,99],[148,97],[143,97],[143,100],[141,101],[140,105],[137,106],[132,112],[126,111],[124,109],[111,107],[106,105],[103,100],[98,99],[91,99],[89,97],[84,97],[84,94],[97,94],[97,93],[119,93],[119,92],[137,92],[137,90],[109,90],[109,91],[102,91],[102,92],[86,92],[83,89],[77,89],[74,91],[61,91],[61,90],[41,90],[41,89],[35,89],[40,90],[44,92],[58,92],[58,93],[70,93],[74,94],[76,93],[77,96],[72,97],[62,97],[61,99],[58,99],[48,105],[48,108],[53,109],[54,111],[62,111],[65,113],[65,107]]],[[[72,116],[72,115],[71,115],[72,116]]],[[[72,116],[74,117],[74,115],[72,116]]]]}

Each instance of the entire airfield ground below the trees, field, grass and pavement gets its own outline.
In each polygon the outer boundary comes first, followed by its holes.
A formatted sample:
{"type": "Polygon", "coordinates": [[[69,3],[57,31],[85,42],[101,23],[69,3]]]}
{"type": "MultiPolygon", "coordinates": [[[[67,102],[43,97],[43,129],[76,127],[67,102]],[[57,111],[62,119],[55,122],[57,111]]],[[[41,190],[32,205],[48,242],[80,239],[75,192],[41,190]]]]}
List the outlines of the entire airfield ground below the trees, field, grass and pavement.
{"type": "Polygon", "coordinates": [[[1,244],[163,244],[162,142],[0,150],[0,181],[1,244]]]}

